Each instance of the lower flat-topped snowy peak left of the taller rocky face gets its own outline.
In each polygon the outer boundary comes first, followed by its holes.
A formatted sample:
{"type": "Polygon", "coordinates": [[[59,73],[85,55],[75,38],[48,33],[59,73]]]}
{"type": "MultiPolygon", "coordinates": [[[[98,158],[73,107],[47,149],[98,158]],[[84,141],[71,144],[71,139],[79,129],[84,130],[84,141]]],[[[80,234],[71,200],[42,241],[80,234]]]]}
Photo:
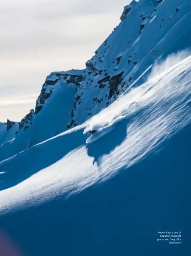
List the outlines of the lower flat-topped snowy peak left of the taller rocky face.
{"type": "Polygon", "coordinates": [[[70,70],[47,77],[35,111],[32,109],[20,122],[16,137],[1,150],[0,161],[67,130],[82,74],[83,70],[70,70]]]}

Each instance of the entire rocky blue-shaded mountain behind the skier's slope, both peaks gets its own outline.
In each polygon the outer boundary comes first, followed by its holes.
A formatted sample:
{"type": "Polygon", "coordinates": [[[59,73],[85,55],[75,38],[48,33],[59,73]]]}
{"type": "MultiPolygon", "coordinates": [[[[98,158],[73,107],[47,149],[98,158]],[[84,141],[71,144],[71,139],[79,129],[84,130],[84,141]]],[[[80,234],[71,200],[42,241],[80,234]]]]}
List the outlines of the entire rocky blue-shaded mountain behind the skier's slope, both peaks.
{"type": "Polygon", "coordinates": [[[120,24],[86,62],[85,70],[47,77],[35,110],[20,122],[19,133],[0,161],[82,124],[138,78],[137,85],[145,82],[144,71],[155,61],[189,48],[190,10],[189,0],[140,0],[125,6],[120,24]]]}

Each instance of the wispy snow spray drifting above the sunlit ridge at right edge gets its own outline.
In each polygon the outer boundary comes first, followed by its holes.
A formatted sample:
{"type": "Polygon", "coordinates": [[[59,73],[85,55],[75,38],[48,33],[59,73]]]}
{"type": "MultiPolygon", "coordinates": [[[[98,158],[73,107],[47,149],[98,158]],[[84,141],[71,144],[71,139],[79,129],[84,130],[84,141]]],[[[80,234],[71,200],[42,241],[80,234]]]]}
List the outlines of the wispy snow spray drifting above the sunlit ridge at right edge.
{"type": "Polygon", "coordinates": [[[159,74],[162,74],[163,72],[173,67],[174,65],[178,64],[179,62],[183,61],[190,55],[191,55],[191,50],[185,49],[169,55],[165,60],[162,60],[162,59],[157,60],[153,65],[151,73],[148,75],[147,81],[158,76],[159,74]]]}

